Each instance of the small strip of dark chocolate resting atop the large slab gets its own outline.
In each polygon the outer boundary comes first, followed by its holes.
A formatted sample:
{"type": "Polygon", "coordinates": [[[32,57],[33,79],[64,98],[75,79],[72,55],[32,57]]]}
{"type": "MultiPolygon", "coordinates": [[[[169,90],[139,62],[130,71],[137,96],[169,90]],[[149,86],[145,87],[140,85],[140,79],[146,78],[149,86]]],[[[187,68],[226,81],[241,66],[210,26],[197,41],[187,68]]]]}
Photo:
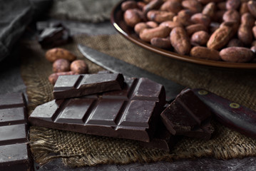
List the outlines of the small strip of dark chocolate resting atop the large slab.
{"type": "Polygon", "coordinates": [[[121,73],[59,76],[53,87],[53,96],[55,99],[73,98],[109,90],[121,90],[123,80],[121,73]]]}

